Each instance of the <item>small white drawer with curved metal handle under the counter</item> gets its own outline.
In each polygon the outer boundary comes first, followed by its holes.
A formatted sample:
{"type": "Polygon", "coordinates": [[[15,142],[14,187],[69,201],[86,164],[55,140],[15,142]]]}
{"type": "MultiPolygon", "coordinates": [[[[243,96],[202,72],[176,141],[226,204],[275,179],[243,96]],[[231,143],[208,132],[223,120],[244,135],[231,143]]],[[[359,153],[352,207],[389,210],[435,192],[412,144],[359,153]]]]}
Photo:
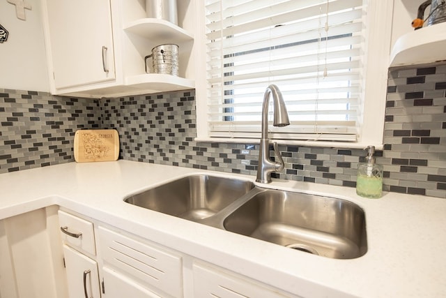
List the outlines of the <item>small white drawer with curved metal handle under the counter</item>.
{"type": "Polygon", "coordinates": [[[64,243],[91,255],[96,254],[93,223],[59,210],[59,225],[64,243]]]}

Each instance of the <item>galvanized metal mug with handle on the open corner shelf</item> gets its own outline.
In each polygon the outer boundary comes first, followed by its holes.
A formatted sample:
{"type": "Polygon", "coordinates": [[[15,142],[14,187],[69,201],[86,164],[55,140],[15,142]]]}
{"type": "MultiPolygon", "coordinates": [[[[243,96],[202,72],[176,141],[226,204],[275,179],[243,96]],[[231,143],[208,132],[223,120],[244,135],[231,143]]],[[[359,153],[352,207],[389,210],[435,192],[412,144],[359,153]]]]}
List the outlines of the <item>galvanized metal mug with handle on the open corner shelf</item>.
{"type": "Polygon", "coordinates": [[[154,73],[176,75],[178,77],[178,45],[158,45],[153,47],[152,54],[145,57],[146,73],[150,73],[149,58],[152,58],[154,73]]]}

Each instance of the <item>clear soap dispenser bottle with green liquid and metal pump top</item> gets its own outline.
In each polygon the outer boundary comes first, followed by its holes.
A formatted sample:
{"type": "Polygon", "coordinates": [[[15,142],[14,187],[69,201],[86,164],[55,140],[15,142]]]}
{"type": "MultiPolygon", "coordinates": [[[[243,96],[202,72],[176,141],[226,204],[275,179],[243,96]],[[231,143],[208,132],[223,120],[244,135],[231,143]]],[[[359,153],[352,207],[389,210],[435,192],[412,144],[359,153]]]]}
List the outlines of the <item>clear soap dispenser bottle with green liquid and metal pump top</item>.
{"type": "Polygon", "coordinates": [[[380,198],[383,195],[383,166],[375,163],[375,147],[366,149],[365,163],[357,165],[356,193],[364,198],[380,198]]]}

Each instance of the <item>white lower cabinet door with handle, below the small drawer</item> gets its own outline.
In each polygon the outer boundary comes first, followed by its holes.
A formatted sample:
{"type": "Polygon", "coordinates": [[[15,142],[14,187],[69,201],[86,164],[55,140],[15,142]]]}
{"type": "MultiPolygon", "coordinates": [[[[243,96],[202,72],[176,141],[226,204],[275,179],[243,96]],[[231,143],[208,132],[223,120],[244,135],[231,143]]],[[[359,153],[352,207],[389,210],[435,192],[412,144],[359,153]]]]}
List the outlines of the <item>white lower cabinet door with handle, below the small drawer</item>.
{"type": "Polygon", "coordinates": [[[97,263],[65,244],[63,255],[70,298],[100,298],[97,263]]]}

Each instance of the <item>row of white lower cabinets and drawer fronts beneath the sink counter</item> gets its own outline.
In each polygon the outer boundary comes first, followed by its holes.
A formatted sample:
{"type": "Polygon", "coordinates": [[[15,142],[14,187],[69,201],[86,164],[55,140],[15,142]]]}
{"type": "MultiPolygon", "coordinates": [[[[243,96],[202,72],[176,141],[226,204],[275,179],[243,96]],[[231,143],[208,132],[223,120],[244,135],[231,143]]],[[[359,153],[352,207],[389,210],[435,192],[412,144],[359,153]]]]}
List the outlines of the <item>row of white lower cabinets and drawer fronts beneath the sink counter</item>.
{"type": "Polygon", "coordinates": [[[70,298],[297,297],[92,218],[59,221],[70,298]]]}

